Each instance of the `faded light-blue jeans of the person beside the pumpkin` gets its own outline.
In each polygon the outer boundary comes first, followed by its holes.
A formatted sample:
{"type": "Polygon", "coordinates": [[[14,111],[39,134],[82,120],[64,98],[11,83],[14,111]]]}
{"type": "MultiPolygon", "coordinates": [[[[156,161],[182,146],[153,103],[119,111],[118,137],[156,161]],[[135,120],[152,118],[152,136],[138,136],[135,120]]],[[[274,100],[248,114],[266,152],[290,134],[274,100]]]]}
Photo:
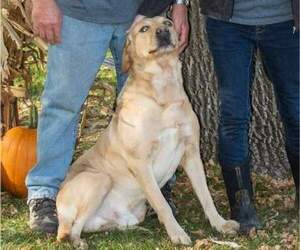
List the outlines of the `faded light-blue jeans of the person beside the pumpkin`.
{"type": "Polygon", "coordinates": [[[48,73],[38,124],[38,160],[26,179],[28,200],[55,199],[72,160],[79,113],[110,48],[117,72],[130,23],[96,24],[63,17],[62,43],[49,47],[48,73]]]}

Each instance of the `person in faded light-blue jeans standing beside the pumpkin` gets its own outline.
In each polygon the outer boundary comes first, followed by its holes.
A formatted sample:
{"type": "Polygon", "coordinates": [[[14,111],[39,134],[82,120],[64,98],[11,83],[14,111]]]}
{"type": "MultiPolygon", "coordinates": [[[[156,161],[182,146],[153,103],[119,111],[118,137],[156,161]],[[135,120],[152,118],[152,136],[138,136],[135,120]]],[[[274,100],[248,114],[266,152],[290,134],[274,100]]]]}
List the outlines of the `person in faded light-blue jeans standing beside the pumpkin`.
{"type": "Polygon", "coordinates": [[[50,46],[37,164],[26,178],[29,224],[31,229],[54,233],[55,199],[73,157],[81,106],[107,50],[113,55],[120,92],[126,79],[122,51],[132,22],[158,15],[169,4],[182,7],[176,1],[158,0],[33,0],[32,4],[34,32],[50,46]]]}

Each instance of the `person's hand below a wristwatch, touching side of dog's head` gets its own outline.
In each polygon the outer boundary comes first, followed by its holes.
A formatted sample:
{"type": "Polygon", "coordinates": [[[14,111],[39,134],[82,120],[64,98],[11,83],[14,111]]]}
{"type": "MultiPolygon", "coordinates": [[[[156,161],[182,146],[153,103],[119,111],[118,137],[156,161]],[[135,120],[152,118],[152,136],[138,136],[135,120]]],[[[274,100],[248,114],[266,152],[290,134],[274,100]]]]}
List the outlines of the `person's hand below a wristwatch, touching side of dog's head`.
{"type": "Polygon", "coordinates": [[[188,10],[184,4],[174,4],[172,6],[172,20],[179,35],[179,51],[182,52],[188,45],[190,30],[188,10]]]}

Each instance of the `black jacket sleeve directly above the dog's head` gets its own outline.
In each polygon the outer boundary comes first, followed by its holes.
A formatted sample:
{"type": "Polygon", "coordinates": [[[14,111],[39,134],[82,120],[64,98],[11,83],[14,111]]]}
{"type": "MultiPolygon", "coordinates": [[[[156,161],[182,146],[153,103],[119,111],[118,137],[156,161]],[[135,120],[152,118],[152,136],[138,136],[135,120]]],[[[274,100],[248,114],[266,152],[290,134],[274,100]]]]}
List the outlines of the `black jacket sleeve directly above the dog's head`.
{"type": "Polygon", "coordinates": [[[160,15],[174,0],[144,0],[138,9],[138,14],[154,17],[160,15]]]}

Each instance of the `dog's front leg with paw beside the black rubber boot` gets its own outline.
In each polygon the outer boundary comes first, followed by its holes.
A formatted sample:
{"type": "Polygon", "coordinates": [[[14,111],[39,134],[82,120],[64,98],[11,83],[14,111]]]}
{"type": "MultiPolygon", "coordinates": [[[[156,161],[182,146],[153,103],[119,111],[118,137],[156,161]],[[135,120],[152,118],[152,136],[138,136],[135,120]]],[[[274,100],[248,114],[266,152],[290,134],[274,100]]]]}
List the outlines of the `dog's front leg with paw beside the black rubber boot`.
{"type": "Polygon", "coordinates": [[[214,205],[206,183],[204,167],[197,145],[187,145],[182,166],[192,182],[193,189],[202,204],[204,213],[208,217],[210,224],[219,232],[228,234],[236,233],[239,229],[239,224],[232,220],[226,221],[223,219],[214,205]]]}

